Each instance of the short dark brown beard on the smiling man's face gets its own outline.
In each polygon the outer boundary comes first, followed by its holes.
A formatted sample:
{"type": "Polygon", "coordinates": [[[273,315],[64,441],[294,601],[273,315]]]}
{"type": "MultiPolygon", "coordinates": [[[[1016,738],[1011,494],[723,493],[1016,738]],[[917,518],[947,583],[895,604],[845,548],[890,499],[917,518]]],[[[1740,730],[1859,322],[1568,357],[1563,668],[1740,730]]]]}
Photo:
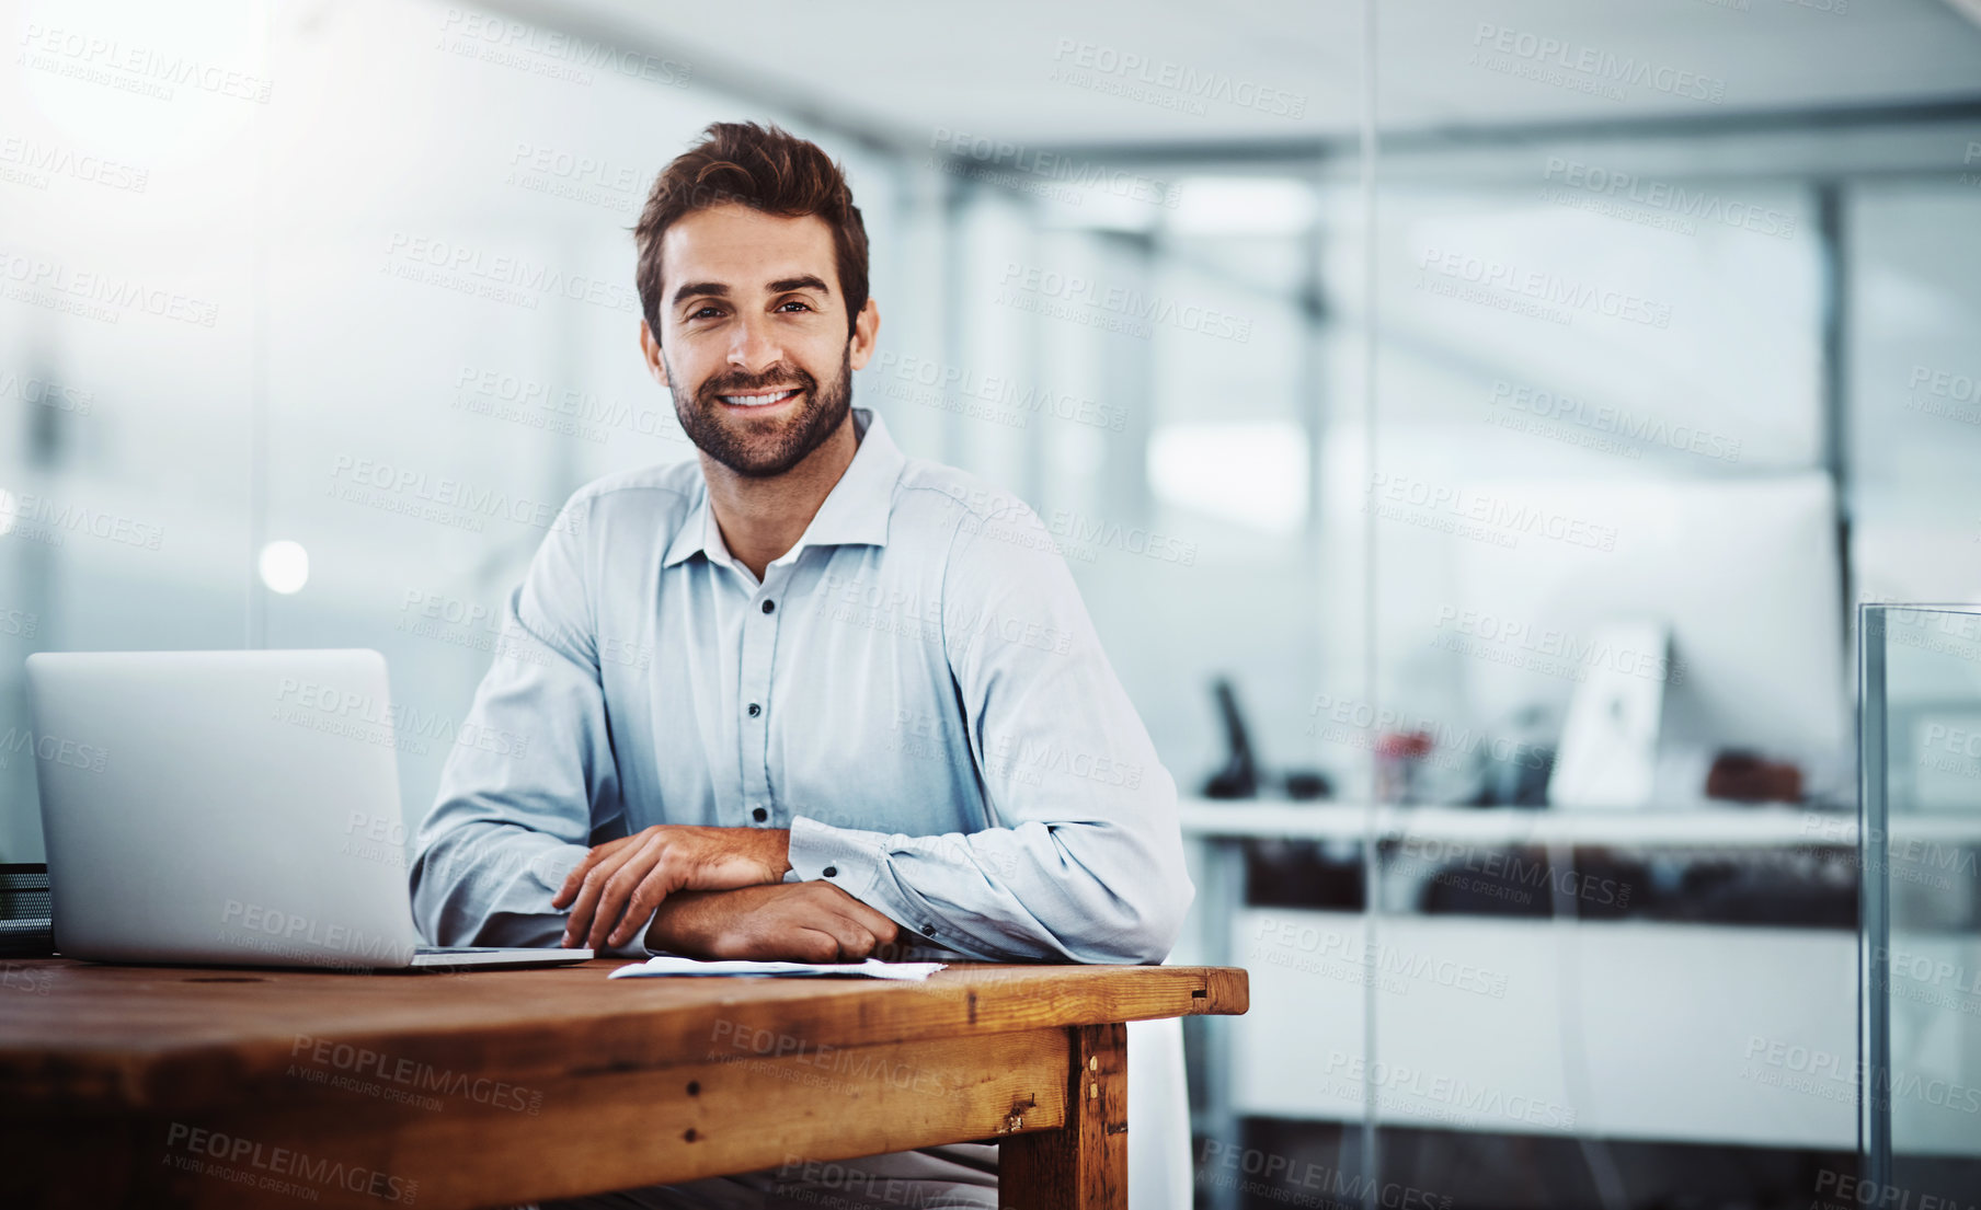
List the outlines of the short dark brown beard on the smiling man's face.
{"type": "MultiPolygon", "coordinates": [[[[668,368],[674,376],[674,368],[668,368]]],[[[852,341],[840,354],[838,376],[820,390],[818,380],[796,366],[779,362],[763,374],[717,374],[674,396],[681,432],[697,450],[749,479],[771,479],[818,450],[830,438],[854,400],[852,341]],[[737,412],[719,396],[753,394],[771,386],[796,386],[804,406],[786,418],[757,418],[737,412]]]]}

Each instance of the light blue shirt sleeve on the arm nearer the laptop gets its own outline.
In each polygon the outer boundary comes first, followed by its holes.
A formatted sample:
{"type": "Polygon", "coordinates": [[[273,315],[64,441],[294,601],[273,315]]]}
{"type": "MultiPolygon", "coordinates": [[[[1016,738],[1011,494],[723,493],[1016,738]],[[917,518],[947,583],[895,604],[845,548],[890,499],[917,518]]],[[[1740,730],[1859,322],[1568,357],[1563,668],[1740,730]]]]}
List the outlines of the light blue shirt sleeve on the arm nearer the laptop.
{"type": "MultiPolygon", "coordinates": [[[[620,790],[586,566],[588,497],[573,497],[505,606],[495,659],[475,691],[420,824],[410,869],[420,933],[434,945],[555,947],[551,907],[620,790]]],[[[636,939],[610,953],[646,957],[636,939]]]]}

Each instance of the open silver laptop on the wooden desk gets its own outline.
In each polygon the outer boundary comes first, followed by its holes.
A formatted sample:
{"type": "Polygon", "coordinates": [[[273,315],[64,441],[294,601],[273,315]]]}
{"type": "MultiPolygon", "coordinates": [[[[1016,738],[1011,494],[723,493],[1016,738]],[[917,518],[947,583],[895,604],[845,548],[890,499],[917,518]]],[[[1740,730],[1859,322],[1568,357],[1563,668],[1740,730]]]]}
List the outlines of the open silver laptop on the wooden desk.
{"type": "MultiPolygon", "coordinates": [[[[55,949],[99,962],[580,962],[412,923],[378,652],[28,655],[55,949]]],[[[444,745],[436,727],[418,743],[444,745]]]]}

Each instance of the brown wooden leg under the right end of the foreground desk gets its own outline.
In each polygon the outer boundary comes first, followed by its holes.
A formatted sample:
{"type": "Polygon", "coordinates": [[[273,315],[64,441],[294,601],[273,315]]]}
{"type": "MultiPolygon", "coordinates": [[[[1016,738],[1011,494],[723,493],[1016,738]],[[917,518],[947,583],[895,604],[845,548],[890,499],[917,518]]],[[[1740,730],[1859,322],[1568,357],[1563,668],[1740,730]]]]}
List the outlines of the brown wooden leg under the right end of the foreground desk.
{"type": "Polygon", "coordinates": [[[1002,1210],[1127,1210],[1127,1026],[1076,1026],[1066,1125],[998,1145],[1002,1210]]]}

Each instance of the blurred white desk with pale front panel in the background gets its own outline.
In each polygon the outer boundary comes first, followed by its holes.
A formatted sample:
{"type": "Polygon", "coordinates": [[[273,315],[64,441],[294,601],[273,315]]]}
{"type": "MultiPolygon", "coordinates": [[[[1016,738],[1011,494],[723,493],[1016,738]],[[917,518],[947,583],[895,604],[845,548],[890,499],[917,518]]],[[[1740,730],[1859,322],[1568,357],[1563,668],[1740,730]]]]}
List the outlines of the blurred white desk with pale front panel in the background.
{"type": "MultiPolygon", "coordinates": [[[[1373,1083],[1383,1125],[1856,1147],[1850,814],[1185,800],[1183,830],[1199,897],[1175,960],[1242,964],[1254,988],[1246,1020],[1199,1026],[1212,1137],[1240,1137],[1242,1117],[1359,1123],[1373,1083]],[[1309,875],[1266,885],[1286,854],[1311,854],[1309,875]],[[1700,869],[1743,865],[1783,893],[1793,877],[1823,885],[1739,923],[1741,901],[1700,869]],[[1305,903],[1290,893],[1302,883],[1305,903]],[[1700,919],[1674,915],[1688,903],[1700,919]],[[1365,1054],[1371,982],[1381,1028],[1365,1054]]],[[[1894,871],[1902,854],[1922,877],[1971,871],[1981,820],[1912,816],[1886,840],[1894,871]]],[[[1981,970],[1971,933],[1908,945],[1928,984],[1981,970]]],[[[1981,1048],[1971,1059],[1981,1083],[1981,1048]]],[[[1914,1109],[1929,1123],[1912,1141],[1981,1153],[1965,1107],[1914,1109]]]]}

